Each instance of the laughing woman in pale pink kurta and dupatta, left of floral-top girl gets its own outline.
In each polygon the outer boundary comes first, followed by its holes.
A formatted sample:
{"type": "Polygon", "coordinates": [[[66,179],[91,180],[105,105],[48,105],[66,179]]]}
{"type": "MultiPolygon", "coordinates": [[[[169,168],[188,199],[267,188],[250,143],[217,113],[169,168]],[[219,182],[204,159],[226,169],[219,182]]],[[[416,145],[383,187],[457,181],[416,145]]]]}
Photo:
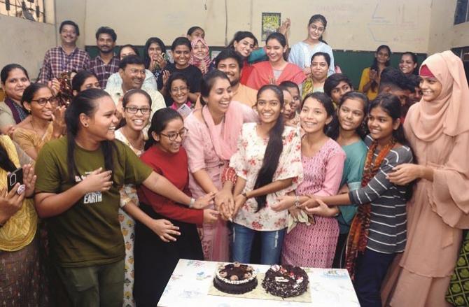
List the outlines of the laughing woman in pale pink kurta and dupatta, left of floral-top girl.
{"type": "MultiPolygon", "coordinates": [[[[183,146],[188,153],[189,189],[195,198],[221,190],[221,171],[237,150],[242,124],[257,121],[254,110],[231,101],[230,89],[225,73],[207,73],[201,86],[204,106],[184,121],[188,129],[183,146]]],[[[215,224],[203,225],[202,249],[206,260],[229,260],[228,227],[221,218],[215,224]]]]}

